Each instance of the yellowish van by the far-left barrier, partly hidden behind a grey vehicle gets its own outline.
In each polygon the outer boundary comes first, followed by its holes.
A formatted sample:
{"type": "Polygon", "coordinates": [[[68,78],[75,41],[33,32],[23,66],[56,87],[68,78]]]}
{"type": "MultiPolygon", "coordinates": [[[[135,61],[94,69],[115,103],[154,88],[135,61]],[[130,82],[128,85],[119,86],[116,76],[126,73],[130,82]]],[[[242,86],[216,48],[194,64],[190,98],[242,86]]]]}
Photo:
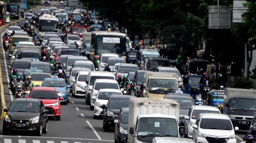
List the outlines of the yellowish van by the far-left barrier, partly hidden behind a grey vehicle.
{"type": "Polygon", "coordinates": [[[16,45],[18,45],[19,41],[28,41],[28,42],[32,42],[32,38],[29,36],[25,36],[25,35],[13,35],[10,37],[10,47],[9,47],[9,57],[10,54],[13,53],[14,48],[16,45]]]}

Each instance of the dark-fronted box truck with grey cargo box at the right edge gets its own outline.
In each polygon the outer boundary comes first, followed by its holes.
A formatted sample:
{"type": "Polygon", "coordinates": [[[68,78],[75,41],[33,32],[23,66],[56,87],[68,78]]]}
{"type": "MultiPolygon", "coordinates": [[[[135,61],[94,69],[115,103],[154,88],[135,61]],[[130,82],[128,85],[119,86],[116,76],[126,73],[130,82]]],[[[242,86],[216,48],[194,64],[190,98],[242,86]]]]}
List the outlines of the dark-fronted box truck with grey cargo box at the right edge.
{"type": "Polygon", "coordinates": [[[225,88],[223,114],[227,114],[234,127],[248,130],[256,112],[256,90],[225,88]]]}

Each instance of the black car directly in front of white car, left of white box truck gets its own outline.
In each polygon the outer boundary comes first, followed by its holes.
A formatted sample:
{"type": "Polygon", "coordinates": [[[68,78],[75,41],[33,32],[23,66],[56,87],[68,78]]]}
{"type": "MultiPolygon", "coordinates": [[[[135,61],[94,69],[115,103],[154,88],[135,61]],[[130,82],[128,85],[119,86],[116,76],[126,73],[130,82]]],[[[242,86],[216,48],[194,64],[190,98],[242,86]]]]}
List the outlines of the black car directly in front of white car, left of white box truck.
{"type": "Polygon", "coordinates": [[[129,95],[112,95],[107,105],[103,104],[103,129],[108,131],[110,128],[114,128],[114,120],[121,108],[129,107],[129,99],[136,98],[136,96],[129,95]]]}

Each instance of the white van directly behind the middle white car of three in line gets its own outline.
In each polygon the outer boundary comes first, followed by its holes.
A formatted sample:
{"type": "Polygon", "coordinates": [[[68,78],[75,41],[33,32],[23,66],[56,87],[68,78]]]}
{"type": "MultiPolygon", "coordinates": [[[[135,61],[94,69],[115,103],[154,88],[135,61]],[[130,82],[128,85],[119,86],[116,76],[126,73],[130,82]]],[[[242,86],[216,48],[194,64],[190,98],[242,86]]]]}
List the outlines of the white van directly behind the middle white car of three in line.
{"type": "Polygon", "coordinates": [[[91,100],[91,92],[92,92],[92,86],[95,82],[96,79],[115,79],[115,75],[113,72],[104,72],[104,71],[90,71],[87,80],[85,81],[87,86],[86,86],[86,91],[85,91],[85,102],[87,105],[90,105],[90,100],[91,100]]]}

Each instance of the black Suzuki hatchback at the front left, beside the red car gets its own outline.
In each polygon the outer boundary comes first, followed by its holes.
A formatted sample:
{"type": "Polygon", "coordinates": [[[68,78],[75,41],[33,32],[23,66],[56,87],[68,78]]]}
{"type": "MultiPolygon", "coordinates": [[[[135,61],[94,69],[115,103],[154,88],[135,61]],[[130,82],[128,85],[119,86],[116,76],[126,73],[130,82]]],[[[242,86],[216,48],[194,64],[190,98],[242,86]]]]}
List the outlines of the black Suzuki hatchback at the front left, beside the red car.
{"type": "Polygon", "coordinates": [[[39,136],[47,133],[48,118],[42,100],[17,98],[4,112],[3,135],[9,135],[13,131],[35,132],[39,136]]]}

